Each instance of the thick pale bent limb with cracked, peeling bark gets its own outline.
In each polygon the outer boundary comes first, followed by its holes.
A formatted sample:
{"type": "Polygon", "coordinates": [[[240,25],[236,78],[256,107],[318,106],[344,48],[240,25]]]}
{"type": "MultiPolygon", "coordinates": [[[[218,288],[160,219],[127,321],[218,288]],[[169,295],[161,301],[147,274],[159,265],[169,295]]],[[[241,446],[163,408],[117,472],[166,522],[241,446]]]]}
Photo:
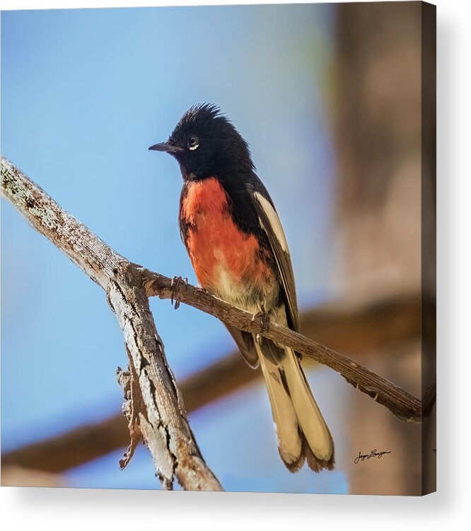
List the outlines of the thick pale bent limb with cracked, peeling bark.
{"type": "MultiPolygon", "coordinates": [[[[142,436],[165,489],[172,488],[176,477],[184,489],[222,490],[194,440],[136,267],[3,157],[1,177],[4,196],[107,293],[124,333],[132,384],[139,387],[140,399],[129,397],[133,409],[129,425],[132,445],[127,458],[132,455],[136,438],[142,436]]],[[[123,464],[126,462],[125,458],[123,464]]]]}

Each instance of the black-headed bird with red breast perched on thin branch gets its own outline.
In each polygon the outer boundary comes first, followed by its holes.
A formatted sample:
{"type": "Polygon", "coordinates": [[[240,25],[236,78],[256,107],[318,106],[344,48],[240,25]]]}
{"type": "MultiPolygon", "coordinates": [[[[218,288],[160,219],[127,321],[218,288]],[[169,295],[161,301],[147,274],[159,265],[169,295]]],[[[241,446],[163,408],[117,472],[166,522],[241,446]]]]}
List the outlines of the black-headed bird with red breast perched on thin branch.
{"type": "MultiPolygon", "coordinates": [[[[180,166],[180,236],[199,285],[212,295],[299,330],[296,287],[283,227],[257,176],[248,143],[212,103],[193,105],[168,140],[149,147],[180,166]]],[[[334,442],[301,368],[301,356],[260,334],[226,324],[253,369],[261,367],[278,450],[290,472],[306,462],[334,468],[334,442]]]]}

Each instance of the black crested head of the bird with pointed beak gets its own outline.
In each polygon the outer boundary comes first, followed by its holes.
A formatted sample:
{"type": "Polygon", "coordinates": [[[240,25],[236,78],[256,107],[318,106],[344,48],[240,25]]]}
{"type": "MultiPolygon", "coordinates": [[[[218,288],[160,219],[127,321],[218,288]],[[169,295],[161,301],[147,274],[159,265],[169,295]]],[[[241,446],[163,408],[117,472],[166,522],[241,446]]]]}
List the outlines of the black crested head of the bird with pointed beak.
{"type": "Polygon", "coordinates": [[[247,142],[216,105],[194,105],[167,142],[149,149],[167,152],[180,164],[183,178],[230,176],[254,169],[247,142]]]}

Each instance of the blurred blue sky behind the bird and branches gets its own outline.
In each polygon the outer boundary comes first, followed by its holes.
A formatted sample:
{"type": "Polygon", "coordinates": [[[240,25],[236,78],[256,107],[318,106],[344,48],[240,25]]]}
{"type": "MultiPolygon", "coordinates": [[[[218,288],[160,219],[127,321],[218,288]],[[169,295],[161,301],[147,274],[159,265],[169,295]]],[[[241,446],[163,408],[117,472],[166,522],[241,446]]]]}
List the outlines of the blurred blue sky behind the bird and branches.
{"type": "MultiPolygon", "coordinates": [[[[300,305],[310,307],[329,297],[335,263],[333,17],[322,5],[3,12],[1,153],[130,260],[195,282],[178,233],[178,166],[147,147],[168,137],[190,105],[221,105],[277,204],[300,305]]],[[[1,236],[5,451],[118,411],[115,370],[127,358],[103,291],[4,200],[1,236]]],[[[175,312],[169,302],[151,307],[177,378],[233,350],[210,316],[183,305],[175,312]]],[[[335,379],[325,370],[313,377],[335,379]]],[[[315,479],[286,472],[262,387],[190,420],[226,489],[347,489],[342,472],[315,479]],[[269,448],[265,464],[256,453],[245,472],[224,469],[218,435],[228,426],[240,433],[235,462],[250,436],[269,448]]],[[[67,478],[80,486],[156,486],[144,450],[125,472],[107,456],[67,478]]]]}

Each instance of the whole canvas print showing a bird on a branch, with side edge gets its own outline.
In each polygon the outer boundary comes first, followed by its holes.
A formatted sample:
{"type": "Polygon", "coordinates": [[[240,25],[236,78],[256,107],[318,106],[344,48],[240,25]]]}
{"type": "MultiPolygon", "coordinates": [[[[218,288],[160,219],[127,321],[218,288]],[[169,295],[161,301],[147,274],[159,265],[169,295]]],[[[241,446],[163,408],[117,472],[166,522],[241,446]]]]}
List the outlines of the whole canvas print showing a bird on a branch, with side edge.
{"type": "Polygon", "coordinates": [[[434,491],[434,6],[1,39],[1,484],[434,491]]]}

